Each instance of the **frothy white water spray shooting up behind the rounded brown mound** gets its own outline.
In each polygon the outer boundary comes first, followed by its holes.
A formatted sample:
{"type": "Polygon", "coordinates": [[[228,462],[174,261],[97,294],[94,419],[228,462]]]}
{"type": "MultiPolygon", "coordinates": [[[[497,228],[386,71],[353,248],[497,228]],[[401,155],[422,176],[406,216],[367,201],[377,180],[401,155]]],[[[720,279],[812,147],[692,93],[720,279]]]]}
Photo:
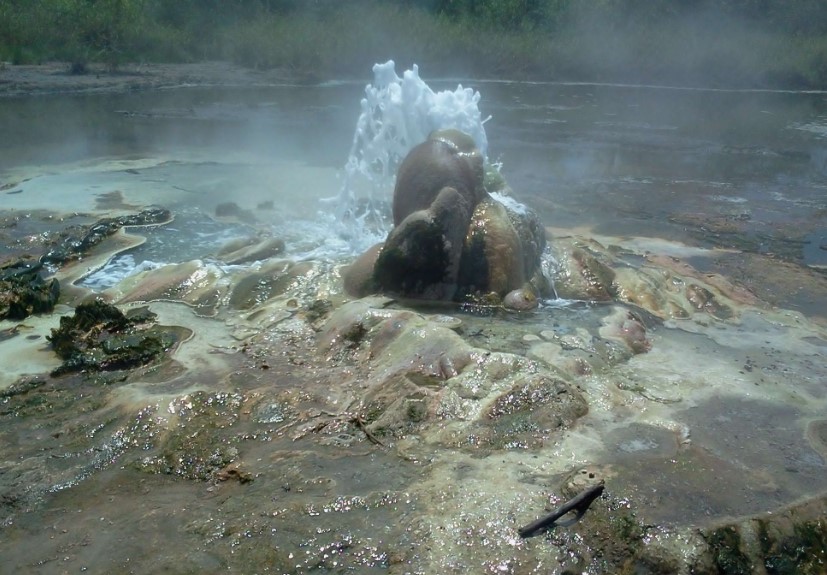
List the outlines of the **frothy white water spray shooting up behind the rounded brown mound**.
{"type": "Polygon", "coordinates": [[[348,236],[381,241],[389,225],[388,210],[381,206],[389,202],[396,170],[411,148],[434,130],[454,128],[471,136],[485,158],[488,118],[480,113],[479,92],[462,85],[434,92],[419,77],[416,65],[400,78],[393,60],[388,60],[375,64],[373,75],[361,101],[342,189],[331,200],[348,236]]]}

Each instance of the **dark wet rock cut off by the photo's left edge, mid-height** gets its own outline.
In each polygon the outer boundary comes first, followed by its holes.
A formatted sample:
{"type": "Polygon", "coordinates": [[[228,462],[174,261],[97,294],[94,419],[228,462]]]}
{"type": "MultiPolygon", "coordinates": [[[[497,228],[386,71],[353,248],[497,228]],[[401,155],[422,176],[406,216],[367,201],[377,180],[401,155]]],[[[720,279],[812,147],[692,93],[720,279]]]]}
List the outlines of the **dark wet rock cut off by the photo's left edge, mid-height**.
{"type": "Polygon", "coordinates": [[[0,267],[0,320],[20,320],[52,311],[60,297],[60,284],[45,280],[42,264],[17,260],[0,267]]]}

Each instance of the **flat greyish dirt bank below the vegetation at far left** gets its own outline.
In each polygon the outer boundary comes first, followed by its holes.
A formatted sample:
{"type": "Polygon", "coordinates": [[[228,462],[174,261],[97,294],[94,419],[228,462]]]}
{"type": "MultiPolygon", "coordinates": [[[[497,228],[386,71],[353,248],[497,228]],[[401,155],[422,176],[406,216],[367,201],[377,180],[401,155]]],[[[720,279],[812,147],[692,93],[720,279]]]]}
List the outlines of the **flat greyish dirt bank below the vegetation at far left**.
{"type": "Polygon", "coordinates": [[[57,93],[128,92],[182,86],[269,86],[306,83],[285,70],[251,70],[224,62],[127,64],[115,71],[90,64],[85,74],[70,73],[66,62],[13,66],[0,62],[0,97],[57,93]]]}

